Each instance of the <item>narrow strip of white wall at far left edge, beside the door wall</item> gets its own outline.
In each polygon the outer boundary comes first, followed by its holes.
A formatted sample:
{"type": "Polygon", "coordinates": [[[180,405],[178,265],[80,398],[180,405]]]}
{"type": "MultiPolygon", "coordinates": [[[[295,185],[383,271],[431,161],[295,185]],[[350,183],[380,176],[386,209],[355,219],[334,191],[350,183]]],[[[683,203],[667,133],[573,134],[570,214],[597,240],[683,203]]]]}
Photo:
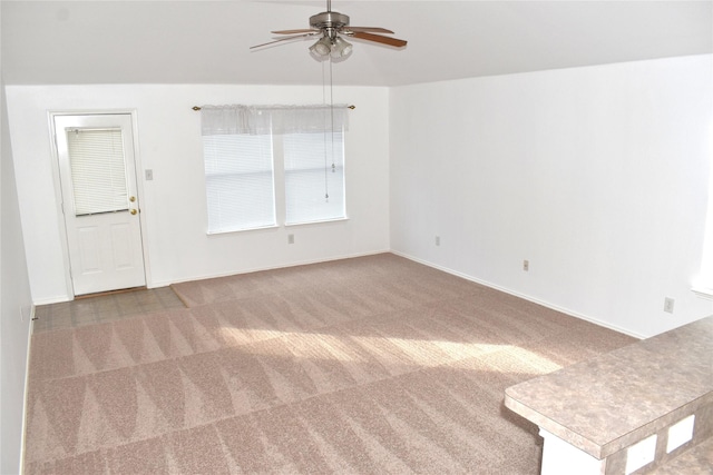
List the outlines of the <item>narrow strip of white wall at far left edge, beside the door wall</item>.
{"type": "Polygon", "coordinates": [[[0,73],[0,473],[20,473],[32,299],[0,73]]]}

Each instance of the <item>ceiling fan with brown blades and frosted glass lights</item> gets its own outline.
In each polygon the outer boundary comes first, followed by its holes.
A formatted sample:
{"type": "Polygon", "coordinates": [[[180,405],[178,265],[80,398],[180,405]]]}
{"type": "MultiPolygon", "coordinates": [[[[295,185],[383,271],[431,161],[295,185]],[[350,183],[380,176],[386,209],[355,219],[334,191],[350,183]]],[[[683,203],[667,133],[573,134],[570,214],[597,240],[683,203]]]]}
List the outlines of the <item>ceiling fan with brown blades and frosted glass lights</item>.
{"type": "Polygon", "coordinates": [[[407,42],[398,38],[384,37],[379,33],[393,34],[393,31],[378,27],[351,27],[346,14],[332,11],[332,1],[326,0],[326,11],[310,17],[310,27],[296,30],[272,31],[275,34],[287,34],[274,41],[255,44],[251,49],[266,47],[282,41],[319,37],[318,41],[310,47],[310,52],[318,58],[326,59],[345,58],[352,52],[352,44],[343,37],[356,38],[365,41],[373,41],[395,48],[403,48],[407,42]]]}

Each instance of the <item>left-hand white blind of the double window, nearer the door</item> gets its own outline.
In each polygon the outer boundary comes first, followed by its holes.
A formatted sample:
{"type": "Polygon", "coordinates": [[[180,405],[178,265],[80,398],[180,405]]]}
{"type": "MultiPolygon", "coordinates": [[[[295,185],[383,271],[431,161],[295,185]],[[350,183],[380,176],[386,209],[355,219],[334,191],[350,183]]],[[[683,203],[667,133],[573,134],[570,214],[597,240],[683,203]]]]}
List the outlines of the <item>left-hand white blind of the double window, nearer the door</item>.
{"type": "Polygon", "coordinates": [[[270,135],[203,137],[208,232],[274,226],[270,135]]]}

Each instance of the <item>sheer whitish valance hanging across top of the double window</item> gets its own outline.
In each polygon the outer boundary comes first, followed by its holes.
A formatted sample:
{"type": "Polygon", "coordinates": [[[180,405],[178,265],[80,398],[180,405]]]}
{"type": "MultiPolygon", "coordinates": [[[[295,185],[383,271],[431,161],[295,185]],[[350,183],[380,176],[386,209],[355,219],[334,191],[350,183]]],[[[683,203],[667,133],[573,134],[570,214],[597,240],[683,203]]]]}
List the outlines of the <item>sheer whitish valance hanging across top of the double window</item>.
{"type": "Polygon", "coordinates": [[[341,132],[348,130],[346,105],[202,106],[204,136],[341,132]]]}

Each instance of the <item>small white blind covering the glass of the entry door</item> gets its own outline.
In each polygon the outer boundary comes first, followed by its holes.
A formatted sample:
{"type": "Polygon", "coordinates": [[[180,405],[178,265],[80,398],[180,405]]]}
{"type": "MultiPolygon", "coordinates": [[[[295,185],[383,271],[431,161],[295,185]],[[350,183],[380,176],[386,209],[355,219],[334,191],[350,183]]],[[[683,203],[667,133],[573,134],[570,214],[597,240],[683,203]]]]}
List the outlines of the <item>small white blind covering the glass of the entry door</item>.
{"type": "Polygon", "coordinates": [[[67,145],[75,214],[128,209],[121,129],[70,129],[67,145]]]}

